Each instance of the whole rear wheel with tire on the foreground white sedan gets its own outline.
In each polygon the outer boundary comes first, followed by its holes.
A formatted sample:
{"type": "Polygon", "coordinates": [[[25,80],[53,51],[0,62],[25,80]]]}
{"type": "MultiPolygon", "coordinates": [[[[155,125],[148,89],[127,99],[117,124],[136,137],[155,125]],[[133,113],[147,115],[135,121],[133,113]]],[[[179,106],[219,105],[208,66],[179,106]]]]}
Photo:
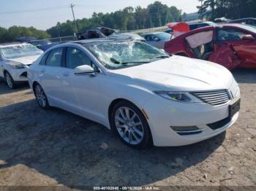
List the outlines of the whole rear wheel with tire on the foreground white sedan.
{"type": "Polygon", "coordinates": [[[42,90],[41,85],[39,84],[34,85],[34,95],[36,96],[37,103],[42,109],[45,109],[45,110],[50,109],[48,98],[45,95],[44,90],[42,90]]]}

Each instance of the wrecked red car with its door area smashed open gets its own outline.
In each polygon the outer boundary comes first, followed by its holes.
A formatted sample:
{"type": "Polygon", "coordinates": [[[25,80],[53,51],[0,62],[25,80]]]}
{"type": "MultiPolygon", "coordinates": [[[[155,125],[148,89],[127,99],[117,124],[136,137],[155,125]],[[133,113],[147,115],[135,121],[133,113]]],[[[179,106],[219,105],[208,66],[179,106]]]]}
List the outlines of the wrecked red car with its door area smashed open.
{"type": "Polygon", "coordinates": [[[165,51],[219,63],[230,70],[256,69],[256,28],[243,24],[198,28],[166,42],[165,51]]]}

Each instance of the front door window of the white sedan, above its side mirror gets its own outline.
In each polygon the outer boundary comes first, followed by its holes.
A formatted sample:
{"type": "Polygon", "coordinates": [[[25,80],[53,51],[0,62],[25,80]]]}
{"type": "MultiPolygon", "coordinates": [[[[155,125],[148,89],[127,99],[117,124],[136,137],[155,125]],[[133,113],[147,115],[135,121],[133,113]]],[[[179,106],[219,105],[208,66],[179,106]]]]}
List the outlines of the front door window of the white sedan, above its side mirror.
{"type": "Polygon", "coordinates": [[[82,65],[89,65],[94,68],[91,59],[82,50],[75,47],[67,48],[66,64],[69,69],[75,69],[82,65]]]}

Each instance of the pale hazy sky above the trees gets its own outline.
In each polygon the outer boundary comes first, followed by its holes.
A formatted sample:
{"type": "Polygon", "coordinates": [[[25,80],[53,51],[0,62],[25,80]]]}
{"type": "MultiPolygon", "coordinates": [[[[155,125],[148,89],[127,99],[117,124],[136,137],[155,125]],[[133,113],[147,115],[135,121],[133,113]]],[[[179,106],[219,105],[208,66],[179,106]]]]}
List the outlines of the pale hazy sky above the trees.
{"type": "MultiPolygon", "coordinates": [[[[75,4],[75,18],[91,17],[93,12],[114,12],[124,7],[147,7],[156,0],[0,0],[0,26],[34,26],[46,30],[58,22],[72,20],[70,4],[75,4]]],[[[159,0],[183,12],[197,12],[198,0],[159,0]]]]}

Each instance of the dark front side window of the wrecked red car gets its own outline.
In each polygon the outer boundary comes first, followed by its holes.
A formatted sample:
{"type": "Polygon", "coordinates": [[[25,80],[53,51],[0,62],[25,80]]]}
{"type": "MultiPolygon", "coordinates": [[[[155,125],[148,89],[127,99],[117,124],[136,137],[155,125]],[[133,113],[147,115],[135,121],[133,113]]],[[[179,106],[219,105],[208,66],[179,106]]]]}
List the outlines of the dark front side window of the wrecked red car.
{"type": "Polygon", "coordinates": [[[246,35],[246,33],[236,28],[222,28],[218,30],[217,39],[220,41],[236,41],[242,40],[244,35],[246,35]]]}

